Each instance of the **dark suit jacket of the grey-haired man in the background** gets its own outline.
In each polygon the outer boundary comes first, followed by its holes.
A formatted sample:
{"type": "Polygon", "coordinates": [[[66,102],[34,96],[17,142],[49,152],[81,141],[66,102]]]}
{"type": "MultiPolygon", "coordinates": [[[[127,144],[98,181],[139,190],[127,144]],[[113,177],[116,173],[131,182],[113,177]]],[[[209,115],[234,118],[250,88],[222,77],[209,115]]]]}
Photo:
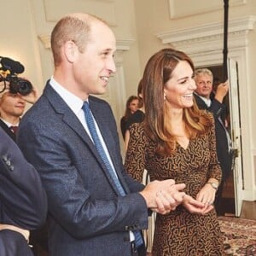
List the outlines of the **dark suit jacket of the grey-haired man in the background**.
{"type": "Polygon", "coordinates": [[[231,164],[230,164],[230,153],[229,153],[229,145],[226,137],[226,130],[224,127],[224,123],[219,120],[222,118],[222,114],[224,112],[224,104],[218,102],[214,98],[212,99],[211,107],[208,108],[207,104],[201,99],[200,96],[194,94],[195,102],[197,103],[198,108],[206,109],[213,113],[215,120],[215,133],[216,133],[216,148],[219,164],[221,166],[223,172],[223,181],[230,174],[231,164]]]}

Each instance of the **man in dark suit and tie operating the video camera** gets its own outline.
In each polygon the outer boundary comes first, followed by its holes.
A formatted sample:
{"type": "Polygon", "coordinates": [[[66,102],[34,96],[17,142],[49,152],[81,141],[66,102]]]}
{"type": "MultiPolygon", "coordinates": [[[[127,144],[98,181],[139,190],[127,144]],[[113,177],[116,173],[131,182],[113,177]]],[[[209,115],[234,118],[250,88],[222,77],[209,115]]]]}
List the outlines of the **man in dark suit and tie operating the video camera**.
{"type": "Polygon", "coordinates": [[[9,90],[9,82],[0,82],[0,126],[14,141],[20,118],[26,109],[26,102],[34,103],[38,99],[38,91],[32,87],[31,92],[22,96],[9,90]],[[5,84],[4,84],[5,83],[5,84]]]}

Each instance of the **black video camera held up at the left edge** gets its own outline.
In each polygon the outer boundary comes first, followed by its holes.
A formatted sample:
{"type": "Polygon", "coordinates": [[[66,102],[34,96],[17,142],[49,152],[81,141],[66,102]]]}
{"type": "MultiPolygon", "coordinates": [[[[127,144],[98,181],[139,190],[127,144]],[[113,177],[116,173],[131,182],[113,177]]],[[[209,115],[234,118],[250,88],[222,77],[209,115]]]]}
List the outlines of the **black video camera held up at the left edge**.
{"type": "Polygon", "coordinates": [[[6,90],[6,81],[9,82],[9,92],[12,94],[20,93],[26,96],[32,91],[32,84],[17,76],[18,73],[24,72],[24,66],[19,61],[14,61],[10,58],[0,56],[0,82],[3,82],[3,90],[6,90]]]}

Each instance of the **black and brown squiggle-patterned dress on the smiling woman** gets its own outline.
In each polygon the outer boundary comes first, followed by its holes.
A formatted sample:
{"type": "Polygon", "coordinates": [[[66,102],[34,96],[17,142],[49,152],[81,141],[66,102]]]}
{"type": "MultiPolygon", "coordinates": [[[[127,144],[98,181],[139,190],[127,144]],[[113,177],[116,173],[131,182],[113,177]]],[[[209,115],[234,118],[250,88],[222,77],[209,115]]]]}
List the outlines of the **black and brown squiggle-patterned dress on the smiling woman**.
{"type": "MultiPolygon", "coordinates": [[[[209,177],[220,180],[213,119],[207,134],[190,140],[186,149],[177,145],[172,156],[154,154],[155,143],[145,135],[142,124],[133,125],[130,133],[125,169],[138,181],[142,181],[146,169],[151,181],[172,178],[176,183],[185,183],[185,192],[195,198],[209,177]]],[[[157,214],[153,255],[224,255],[215,210],[206,215],[191,214],[180,205],[167,215],[157,214]]]]}

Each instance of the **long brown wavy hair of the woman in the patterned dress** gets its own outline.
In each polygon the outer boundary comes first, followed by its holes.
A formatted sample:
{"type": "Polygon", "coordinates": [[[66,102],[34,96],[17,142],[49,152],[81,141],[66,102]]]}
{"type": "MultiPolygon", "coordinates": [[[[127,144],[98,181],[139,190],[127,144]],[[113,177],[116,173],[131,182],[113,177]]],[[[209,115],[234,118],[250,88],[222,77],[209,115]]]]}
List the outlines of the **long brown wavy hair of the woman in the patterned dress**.
{"type": "MultiPolygon", "coordinates": [[[[179,61],[187,61],[195,71],[188,55],[176,49],[161,49],[149,60],[143,73],[143,100],[145,132],[157,143],[158,154],[172,154],[176,149],[176,138],[166,125],[167,111],[164,103],[164,87],[172,77],[179,61]]],[[[183,121],[189,138],[198,137],[208,131],[212,120],[199,110],[195,101],[191,108],[183,109],[183,121]]]]}

